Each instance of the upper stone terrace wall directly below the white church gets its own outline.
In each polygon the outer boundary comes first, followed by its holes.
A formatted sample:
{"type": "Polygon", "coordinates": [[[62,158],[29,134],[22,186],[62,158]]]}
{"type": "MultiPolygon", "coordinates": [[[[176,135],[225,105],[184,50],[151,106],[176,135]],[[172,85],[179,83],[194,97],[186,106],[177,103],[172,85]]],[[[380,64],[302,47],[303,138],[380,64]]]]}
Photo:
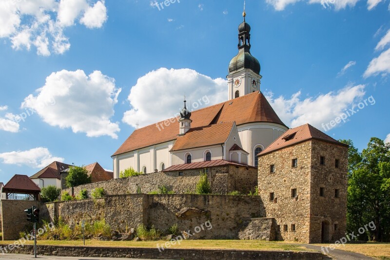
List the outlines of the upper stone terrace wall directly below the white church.
{"type": "MultiPolygon", "coordinates": [[[[157,172],[94,182],[74,187],[73,194],[78,195],[82,189],[86,189],[91,197],[91,191],[98,187],[103,187],[107,195],[135,194],[138,187],[141,193],[147,194],[158,190],[161,185],[167,186],[176,194],[194,193],[201,171],[203,169],[157,172]]],[[[257,170],[254,167],[226,165],[211,167],[208,171],[212,193],[215,194],[227,194],[234,190],[247,194],[257,185],[257,170]]],[[[71,188],[64,191],[72,194],[71,188]]]]}

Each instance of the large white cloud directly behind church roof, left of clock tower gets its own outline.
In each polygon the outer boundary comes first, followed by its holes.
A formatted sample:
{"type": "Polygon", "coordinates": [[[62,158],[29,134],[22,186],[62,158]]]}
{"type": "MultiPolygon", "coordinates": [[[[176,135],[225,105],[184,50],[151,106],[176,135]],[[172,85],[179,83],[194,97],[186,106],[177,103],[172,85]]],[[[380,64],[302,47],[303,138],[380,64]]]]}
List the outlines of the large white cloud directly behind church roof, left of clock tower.
{"type": "Polygon", "coordinates": [[[202,101],[201,108],[226,101],[226,91],[224,79],[212,79],[191,69],[160,68],[139,78],[132,87],[128,97],[131,109],[124,113],[123,122],[133,127],[137,121],[141,127],[153,124],[174,117],[183,108],[184,93],[193,103],[207,96],[209,102],[202,101]]]}

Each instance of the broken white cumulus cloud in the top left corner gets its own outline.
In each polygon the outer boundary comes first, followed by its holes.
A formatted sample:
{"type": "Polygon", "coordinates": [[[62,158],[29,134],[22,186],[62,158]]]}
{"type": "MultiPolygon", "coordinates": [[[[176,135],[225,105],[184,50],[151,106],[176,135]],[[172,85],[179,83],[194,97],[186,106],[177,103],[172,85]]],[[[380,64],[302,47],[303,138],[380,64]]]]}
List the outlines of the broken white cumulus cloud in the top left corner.
{"type": "Polygon", "coordinates": [[[66,27],[84,24],[98,28],[107,20],[104,0],[90,5],[89,0],[1,0],[0,38],[9,39],[12,48],[37,48],[37,53],[49,56],[69,50],[66,27]]]}

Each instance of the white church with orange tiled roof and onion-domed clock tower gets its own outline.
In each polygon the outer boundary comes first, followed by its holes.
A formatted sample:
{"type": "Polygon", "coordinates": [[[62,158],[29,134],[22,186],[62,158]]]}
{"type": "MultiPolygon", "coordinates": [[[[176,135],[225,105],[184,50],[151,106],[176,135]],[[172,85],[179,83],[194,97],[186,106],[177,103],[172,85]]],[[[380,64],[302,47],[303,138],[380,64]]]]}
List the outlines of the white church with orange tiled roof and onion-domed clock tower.
{"type": "Polygon", "coordinates": [[[153,173],[212,160],[257,167],[257,154],[289,129],[260,91],[260,63],[250,52],[251,26],[243,16],[238,54],[229,64],[228,100],[196,111],[184,101],[179,118],[135,130],[112,156],[114,178],[130,167],[153,173]]]}

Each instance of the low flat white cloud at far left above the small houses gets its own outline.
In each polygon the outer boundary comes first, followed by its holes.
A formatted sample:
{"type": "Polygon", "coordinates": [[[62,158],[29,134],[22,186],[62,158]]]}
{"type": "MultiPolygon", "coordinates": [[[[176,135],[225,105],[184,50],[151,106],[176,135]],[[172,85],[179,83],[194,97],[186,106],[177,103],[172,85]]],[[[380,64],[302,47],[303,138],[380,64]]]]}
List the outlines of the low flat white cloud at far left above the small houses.
{"type": "Polygon", "coordinates": [[[54,157],[45,147],[2,153],[0,159],[3,160],[2,163],[25,165],[33,168],[44,168],[53,161],[64,161],[63,158],[54,157]]]}

